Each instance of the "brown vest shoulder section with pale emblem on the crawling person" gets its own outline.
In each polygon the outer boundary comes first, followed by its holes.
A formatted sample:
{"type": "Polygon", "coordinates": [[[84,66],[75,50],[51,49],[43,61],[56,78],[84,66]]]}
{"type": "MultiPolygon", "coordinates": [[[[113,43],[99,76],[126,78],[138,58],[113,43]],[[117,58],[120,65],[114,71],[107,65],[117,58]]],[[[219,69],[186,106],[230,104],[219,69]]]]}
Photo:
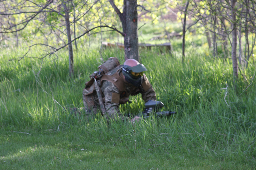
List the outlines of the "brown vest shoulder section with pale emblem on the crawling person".
{"type": "Polygon", "coordinates": [[[120,77],[118,71],[115,72],[115,74],[113,74],[113,75],[106,75],[106,74],[103,75],[100,82],[102,82],[102,80],[107,80],[107,81],[112,82],[120,90],[120,92],[125,91],[124,81],[120,77]]]}

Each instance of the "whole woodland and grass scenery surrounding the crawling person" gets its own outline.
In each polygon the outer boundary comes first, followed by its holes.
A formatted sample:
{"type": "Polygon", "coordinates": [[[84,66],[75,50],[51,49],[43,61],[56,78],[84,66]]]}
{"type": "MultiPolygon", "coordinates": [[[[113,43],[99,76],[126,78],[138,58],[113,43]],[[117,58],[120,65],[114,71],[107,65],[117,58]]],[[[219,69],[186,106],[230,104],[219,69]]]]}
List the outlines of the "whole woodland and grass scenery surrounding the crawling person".
{"type": "MultiPolygon", "coordinates": [[[[2,0],[1,167],[255,169],[255,5],[2,0]],[[70,114],[109,57],[143,63],[176,115],[132,124],[70,114]]],[[[121,112],[141,113],[140,96],[130,99],[121,112]]]]}

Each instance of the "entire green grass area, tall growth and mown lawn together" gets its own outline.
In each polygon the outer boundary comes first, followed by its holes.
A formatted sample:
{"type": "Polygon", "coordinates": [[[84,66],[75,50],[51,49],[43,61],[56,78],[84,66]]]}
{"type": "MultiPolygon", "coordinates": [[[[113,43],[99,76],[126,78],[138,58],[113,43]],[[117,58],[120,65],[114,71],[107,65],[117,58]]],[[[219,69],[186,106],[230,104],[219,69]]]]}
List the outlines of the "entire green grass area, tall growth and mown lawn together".
{"type": "MultiPolygon", "coordinates": [[[[81,49],[70,79],[64,51],[54,61],[25,57],[18,63],[7,60],[24,50],[2,49],[1,168],[255,169],[255,66],[249,64],[243,71],[248,81],[240,75],[234,90],[232,61],[212,59],[203,48],[188,47],[184,63],[178,51],[171,57],[159,49],[140,50],[157,100],[177,114],[135,124],[107,123],[101,115],[75,117],[63,109],[83,107],[84,83],[102,62],[100,56],[123,63],[123,51],[81,49]]],[[[144,109],[140,95],[130,99],[132,104],[121,106],[123,113],[144,109]]]]}

